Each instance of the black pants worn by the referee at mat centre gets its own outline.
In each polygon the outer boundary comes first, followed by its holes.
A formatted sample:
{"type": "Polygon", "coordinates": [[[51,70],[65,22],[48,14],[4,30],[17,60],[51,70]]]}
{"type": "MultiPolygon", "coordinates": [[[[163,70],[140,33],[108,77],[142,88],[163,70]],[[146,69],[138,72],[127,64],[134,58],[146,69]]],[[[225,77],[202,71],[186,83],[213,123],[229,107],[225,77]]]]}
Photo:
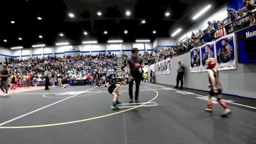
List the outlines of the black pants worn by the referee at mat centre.
{"type": "Polygon", "coordinates": [[[129,82],[130,99],[133,99],[133,97],[132,97],[132,87],[133,87],[133,81],[135,81],[135,83],[136,83],[135,99],[138,100],[139,92],[140,92],[141,73],[140,73],[139,70],[131,70],[131,75],[132,75],[133,79],[129,82]]]}

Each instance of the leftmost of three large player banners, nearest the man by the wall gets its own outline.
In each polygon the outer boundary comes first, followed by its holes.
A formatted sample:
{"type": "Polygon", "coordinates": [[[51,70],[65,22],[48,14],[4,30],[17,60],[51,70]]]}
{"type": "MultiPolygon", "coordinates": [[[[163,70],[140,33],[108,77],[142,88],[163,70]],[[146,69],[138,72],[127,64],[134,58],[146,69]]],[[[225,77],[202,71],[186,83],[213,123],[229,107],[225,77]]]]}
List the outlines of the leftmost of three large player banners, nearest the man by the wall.
{"type": "Polygon", "coordinates": [[[201,72],[200,47],[190,51],[190,72],[201,72]]]}

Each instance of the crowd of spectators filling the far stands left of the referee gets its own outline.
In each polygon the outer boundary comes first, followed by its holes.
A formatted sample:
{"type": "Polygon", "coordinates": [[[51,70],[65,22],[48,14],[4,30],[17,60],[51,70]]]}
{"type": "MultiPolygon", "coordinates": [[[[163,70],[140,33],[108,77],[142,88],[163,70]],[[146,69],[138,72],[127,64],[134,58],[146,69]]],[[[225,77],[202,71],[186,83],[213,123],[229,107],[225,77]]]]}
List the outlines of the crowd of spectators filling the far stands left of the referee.
{"type": "Polygon", "coordinates": [[[95,74],[99,74],[100,84],[107,84],[116,75],[117,56],[115,54],[99,53],[97,56],[47,56],[46,58],[5,58],[9,72],[9,87],[15,89],[25,86],[37,86],[38,82],[50,77],[51,85],[63,85],[65,81],[83,79],[85,84],[93,84],[95,74]]]}

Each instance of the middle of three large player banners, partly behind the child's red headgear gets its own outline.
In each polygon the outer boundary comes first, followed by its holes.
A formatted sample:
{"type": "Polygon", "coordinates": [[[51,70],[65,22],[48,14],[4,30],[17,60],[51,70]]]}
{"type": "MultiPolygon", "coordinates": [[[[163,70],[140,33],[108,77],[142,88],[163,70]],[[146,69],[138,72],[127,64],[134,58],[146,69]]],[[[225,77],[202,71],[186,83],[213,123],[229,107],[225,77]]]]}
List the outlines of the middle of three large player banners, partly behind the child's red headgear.
{"type": "Polygon", "coordinates": [[[206,60],[208,58],[216,58],[214,42],[209,42],[202,47],[201,49],[201,63],[202,63],[202,71],[207,71],[206,60]]]}

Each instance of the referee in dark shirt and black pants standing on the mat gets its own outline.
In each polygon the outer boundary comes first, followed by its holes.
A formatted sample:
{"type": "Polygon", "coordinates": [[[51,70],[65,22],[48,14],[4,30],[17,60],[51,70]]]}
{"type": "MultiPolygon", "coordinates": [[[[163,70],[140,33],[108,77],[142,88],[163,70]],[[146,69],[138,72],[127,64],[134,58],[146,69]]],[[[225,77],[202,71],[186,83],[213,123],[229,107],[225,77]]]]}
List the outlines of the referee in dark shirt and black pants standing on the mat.
{"type": "Polygon", "coordinates": [[[127,58],[126,68],[127,68],[127,74],[129,76],[129,95],[130,100],[129,103],[132,103],[132,87],[133,87],[133,81],[136,83],[136,90],[135,90],[135,102],[138,103],[138,97],[139,97],[139,91],[140,91],[140,81],[141,81],[141,73],[140,68],[144,67],[144,60],[141,56],[139,56],[139,49],[133,48],[132,49],[132,56],[129,56],[127,58]]]}

